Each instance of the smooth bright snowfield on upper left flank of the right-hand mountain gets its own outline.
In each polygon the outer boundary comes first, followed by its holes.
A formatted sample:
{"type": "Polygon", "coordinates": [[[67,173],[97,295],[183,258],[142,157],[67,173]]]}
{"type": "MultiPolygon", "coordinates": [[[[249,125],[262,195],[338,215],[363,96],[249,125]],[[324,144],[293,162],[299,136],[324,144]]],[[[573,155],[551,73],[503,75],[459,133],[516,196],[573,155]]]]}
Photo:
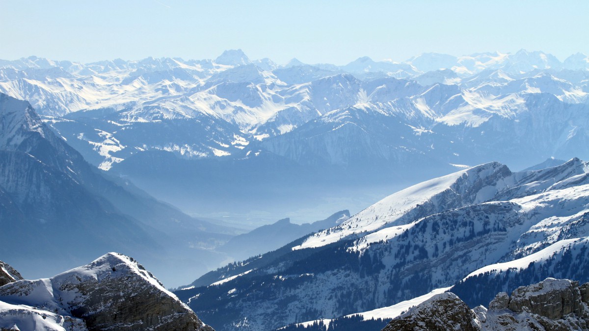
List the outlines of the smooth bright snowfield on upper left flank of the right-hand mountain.
{"type": "Polygon", "coordinates": [[[411,227],[413,224],[409,222],[413,220],[488,200],[498,189],[515,184],[510,175],[511,171],[504,165],[490,163],[425,181],[380,200],[339,226],[314,234],[293,249],[325,246],[385,226],[383,231],[366,236],[366,242],[396,236],[411,227]]]}

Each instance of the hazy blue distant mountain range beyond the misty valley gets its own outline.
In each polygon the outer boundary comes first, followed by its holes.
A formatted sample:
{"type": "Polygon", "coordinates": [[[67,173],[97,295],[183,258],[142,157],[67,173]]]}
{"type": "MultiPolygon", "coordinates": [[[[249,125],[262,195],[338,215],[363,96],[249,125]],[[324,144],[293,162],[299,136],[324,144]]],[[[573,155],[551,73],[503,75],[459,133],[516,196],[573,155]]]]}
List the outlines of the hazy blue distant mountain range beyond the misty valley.
{"type": "Polygon", "coordinates": [[[207,60],[29,57],[0,61],[0,92],[155,197],[264,224],[359,211],[463,165],[589,158],[588,61],[525,50],[343,66],[239,49],[207,60]]]}

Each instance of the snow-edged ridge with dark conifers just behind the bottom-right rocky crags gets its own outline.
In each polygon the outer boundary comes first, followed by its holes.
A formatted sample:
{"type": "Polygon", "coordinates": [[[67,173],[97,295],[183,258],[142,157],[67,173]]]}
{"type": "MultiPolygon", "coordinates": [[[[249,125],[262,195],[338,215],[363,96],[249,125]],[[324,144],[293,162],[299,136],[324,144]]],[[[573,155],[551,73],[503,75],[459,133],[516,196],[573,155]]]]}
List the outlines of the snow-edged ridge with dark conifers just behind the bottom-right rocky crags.
{"type": "MultiPolygon", "coordinates": [[[[533,282],[541,282],[541,280],[550,276],[562,279],[577,278],[581,279],[581,282],[585,282],[589,280],[589,274],[583,266],[587,265],[588,262],[587,238],[562,240],[521,259],[482,267],[454,286],[434,289],[422,296],[392,306],[380,307],[368,312],[359,312],[336,319],[320,319],[297,323],[284,329],[287,331],[324,331],[321,328],[321,325],[324,325],[329,326],[330,330],[337,331],[339,328],[336,326],[346,330],[353,325],[365,329],[370,325],[378,325],[378,323],[384,325],[385,322],[381,321],[396,319],[403,313],[408,312],[412,307],[445,292],[458,295],[471,308],[488,306],[488,303],[494,299],[497,293],[509,293],[518,287],[533,282]]],[[[378,329],[378,327],[372,327],[372,329],[378,329]]]]}

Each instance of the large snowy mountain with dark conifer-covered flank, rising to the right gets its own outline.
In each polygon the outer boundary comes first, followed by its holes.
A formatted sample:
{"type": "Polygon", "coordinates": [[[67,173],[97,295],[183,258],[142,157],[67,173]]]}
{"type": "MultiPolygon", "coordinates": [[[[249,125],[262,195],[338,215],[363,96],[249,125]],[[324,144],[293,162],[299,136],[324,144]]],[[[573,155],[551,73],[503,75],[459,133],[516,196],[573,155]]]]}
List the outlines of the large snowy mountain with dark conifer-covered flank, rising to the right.
{"type": "Polygon", "coordinates": [[[399,191],[332,229],[221,268],[176,294],[216,329],[272,330],[392,306],[473,274],[532,262],[544,277],[587,281],[588,169],[577,158],[535,171],[499,163],[468,168],[399,191]],[[580,264],[548,267],[571,259],[566,247],[580,264]]]}

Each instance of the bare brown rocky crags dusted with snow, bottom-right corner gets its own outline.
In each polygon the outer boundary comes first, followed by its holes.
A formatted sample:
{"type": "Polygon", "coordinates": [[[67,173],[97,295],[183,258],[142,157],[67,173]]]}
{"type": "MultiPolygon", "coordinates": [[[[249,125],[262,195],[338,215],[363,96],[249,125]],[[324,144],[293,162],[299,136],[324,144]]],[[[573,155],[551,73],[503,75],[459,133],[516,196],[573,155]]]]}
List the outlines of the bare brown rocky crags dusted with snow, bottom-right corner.
{"type": "Polygon", "coordinates": [[[393,319],[394,330],[589,330],[589,283],[548,278],[497,294],[473,310],[453,293],[438,294],[393,319]]]}

